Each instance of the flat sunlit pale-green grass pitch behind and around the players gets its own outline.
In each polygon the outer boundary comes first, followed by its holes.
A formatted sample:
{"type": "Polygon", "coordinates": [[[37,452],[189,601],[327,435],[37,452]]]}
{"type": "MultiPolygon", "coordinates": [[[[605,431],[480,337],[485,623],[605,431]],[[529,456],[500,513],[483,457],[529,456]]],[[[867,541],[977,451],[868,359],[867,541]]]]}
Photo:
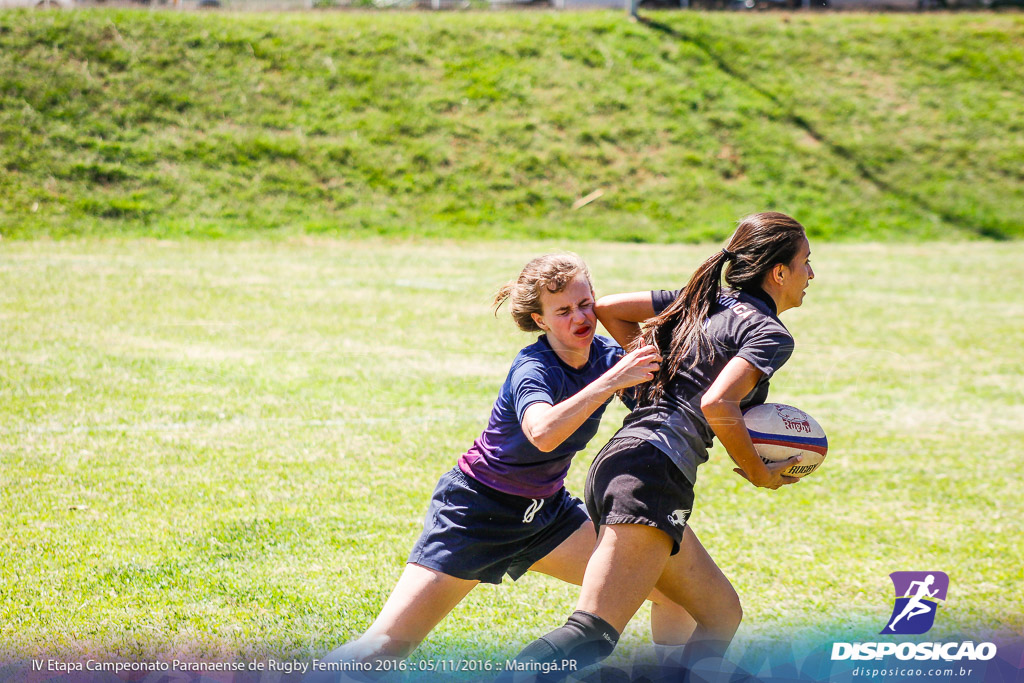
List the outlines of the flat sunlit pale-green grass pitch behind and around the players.
{"type": "MultiPolygon", "coordinates": [[[[529,341],[489,295],[556,246],[5,243],[0,660],[310,656],[358,634],[529,341]]],[[[574,248],[599,293],[678,285],[711,249],[574,248]]],[[[741,636],[873,638],[906,569],[951,578],[930,638],[1019,635],[1024,246],[813,248],[773,399],[819,419],[828,459],[771,493],[716,447],[698,483],[741,636]]],[[[574,595],[480,589],[418,656],[512,653],[574,595]]]]}

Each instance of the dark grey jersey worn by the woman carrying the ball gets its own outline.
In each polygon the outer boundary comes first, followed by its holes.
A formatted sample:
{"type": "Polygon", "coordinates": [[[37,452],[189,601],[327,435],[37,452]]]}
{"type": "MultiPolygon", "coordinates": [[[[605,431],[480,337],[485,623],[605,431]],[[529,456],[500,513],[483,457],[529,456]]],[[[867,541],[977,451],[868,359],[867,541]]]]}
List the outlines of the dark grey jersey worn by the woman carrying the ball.
{"type": "MultiPolygon", "coordinates": [[[[654,311],[659,313],[678,296],[679,290],[651,292],[654,311]]],[[[700,410],[700,399],[726,364],[739,356],[763,373],[740,408],[765,402],[768,380],[793,355],[793,336],[778,319],[775,302],[758,290],[724,290],[705,322],[714,354],[695,366],[695,353],[683,359],[675,377],[652,405],[638,405],[615,434],[649,441],[696,482],[697,466],[708,462],[708,449],[715,433],[700,410]]],[[[668,348],[659,349],[668,355],[668,348]]]]}

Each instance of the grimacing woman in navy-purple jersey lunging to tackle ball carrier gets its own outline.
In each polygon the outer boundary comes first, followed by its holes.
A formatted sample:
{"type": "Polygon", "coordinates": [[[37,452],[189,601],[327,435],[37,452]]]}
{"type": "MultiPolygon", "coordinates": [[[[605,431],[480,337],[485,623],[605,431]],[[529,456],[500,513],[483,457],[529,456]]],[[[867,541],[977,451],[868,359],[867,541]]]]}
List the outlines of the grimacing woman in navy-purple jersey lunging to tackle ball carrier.
{"type": "MultiPolygon", "coordinates": [[[[590,273],[574,254],[530,261],[499,292],[496,310],[506,300],[520,329],[544,334],[515,357],[486,429],[441,476],[423,533],[377,620],[329,661],[409,656],[481,582],[514,581],[528,569],[583,582],[596,533],[565,489],[565,474],[611,396],[650,380],[660,356],[646,344],[624,356],[618,344],[595,336],[590,273]]],[[[685,643],[693,620],[649,593],[655,642],[685,643]]]]}

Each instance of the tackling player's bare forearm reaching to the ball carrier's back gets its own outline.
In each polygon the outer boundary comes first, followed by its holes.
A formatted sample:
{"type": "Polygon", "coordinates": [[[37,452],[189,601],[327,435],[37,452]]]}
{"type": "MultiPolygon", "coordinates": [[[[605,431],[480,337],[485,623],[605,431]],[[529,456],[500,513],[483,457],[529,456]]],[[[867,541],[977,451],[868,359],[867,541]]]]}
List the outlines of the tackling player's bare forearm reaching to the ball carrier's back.
{"type": "Polygon", "coordinates": [[[653,346],[627,353],[607,372],[560,403],[537,402],[527,408],[522,416],[523,433],[538,450],[554,451],[616,391],[653,379],[660,362],[662,356],[653,346]]]}

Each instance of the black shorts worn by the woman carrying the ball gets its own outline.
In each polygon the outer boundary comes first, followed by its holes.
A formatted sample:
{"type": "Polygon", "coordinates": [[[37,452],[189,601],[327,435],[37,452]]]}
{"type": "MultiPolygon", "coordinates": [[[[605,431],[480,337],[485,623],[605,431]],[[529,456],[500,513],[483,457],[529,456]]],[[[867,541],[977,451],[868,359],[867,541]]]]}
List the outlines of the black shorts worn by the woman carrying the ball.
{"type": "Polygon", "coordinates": [[[656,446],[641,438],[608,441],[587,474],[587,512],[601,524],[644,524],[672,538],[679,552],[693,510],[693,484],[656,446]]]}

